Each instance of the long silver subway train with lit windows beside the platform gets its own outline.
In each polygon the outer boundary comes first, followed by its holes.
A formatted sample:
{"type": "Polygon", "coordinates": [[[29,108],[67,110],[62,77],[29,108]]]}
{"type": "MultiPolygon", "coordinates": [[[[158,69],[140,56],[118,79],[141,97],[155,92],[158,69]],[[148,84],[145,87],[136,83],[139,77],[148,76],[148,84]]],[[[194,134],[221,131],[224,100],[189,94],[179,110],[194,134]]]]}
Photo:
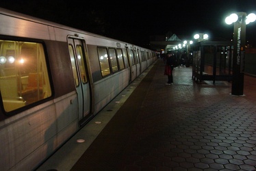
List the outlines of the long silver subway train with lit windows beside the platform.
{"type": "Polygon", "coordinates": [[[0,8],[0,168],[35,170],[155,60],[120,40],[0,8]]]}

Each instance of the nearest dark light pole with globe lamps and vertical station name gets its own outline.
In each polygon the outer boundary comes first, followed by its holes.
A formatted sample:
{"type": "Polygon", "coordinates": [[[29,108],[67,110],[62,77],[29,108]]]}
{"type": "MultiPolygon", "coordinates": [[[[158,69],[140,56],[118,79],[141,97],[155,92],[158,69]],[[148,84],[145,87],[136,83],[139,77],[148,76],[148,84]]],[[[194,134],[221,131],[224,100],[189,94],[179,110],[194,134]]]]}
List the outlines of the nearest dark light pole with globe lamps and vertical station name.
{"type": "Polygon", "coordinates": [[[246,16],[245,12],[237,12],[227,16],[225,22],[228,25],[234,23],[233,32],[233,79],[232,95],[242,96],[244,94],[244,60],[246,44],[246,24],[254,22],[255,14],[246,16]]]}

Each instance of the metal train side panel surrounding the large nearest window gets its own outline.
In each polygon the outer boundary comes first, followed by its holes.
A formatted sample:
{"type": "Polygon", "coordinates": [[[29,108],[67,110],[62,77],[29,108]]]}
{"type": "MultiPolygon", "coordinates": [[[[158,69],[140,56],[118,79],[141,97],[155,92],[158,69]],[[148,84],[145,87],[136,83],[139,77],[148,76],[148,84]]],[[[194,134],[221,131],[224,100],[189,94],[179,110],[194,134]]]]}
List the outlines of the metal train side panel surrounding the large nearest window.
{"type": "MultiPolygon", "coordinates": [[[[54,35],[51,35],[54,31],[53,27],[47,25],[8,16],[1,16],[0,22],[1,26],[5,26],[4,29],[0,29],[0,34],[5,35],[3,36],[4,40],[1,41],[1,49],[8,48],[5,44],[16,40],[18,40],[17,43],[24,41],[29,44],[34,39],[37,41],[42,38],[43,40],[40,42],[43,42],[47,49],[44,53],[47,56],[49,77],[53,80],[51,87],[55,90],[52,92],[52,97],[55,96],[55,98],[49,97],[48,101],[31,103],[25,106],[19,114],[0,121],[0,140],[4,147],[0,151],[1,169],[33,170],[79,129],[77,124],[77,94],[74,91],[75,86],[68,61],[66,42],[51,41],[55,38],[54,35]],[[31,161],[33,162],[31,163],[31,161]]],[[[31,49],[29,46],[23,48],[24,51],[31,49]]],[[[18,52],[18,48],[9,48],[6,51],[8,53],[10,51],[18,52]]],[[[29,53],[27,54],[29,55],[29,53]]],[[[10,71],[8,72],[10,73],[10,71]]],[[[6,80],[6,77],[12,78],[14,76],[1,76],[1,83],[6,80]]],[[[2,91],[1,93],[3,94],[2,91]]],[[[15,102],[14,100],[6,101],[7,103],[15,102]]],[[[9,108],[6,107],[5,109],[9,108]]],[[[1,115],[4,115],[3,112],[1,115]]]]}

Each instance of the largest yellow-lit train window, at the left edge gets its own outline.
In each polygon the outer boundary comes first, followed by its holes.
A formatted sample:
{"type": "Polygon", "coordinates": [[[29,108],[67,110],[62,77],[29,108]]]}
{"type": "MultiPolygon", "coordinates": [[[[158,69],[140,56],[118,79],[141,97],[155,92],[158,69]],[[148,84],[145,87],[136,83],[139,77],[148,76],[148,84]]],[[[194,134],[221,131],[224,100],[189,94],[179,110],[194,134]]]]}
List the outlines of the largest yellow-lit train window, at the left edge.
{"type": "Polygon", "coordinates": [[[0,40],[0,90],[7,112],[51,96],[42,44],[0,40]]]}

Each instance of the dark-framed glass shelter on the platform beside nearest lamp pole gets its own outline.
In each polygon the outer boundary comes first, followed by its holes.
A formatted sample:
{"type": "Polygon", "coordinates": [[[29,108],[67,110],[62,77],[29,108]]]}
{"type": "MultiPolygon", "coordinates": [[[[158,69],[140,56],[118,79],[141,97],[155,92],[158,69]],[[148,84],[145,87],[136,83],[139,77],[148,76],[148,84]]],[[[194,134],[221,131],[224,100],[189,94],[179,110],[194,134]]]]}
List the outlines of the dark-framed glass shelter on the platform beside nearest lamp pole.
{"type": "Polygon", "coordinates": [[[196,81],[232,80],[232,42],[201,41],[193,46],[192,78],[196,81]]]}

